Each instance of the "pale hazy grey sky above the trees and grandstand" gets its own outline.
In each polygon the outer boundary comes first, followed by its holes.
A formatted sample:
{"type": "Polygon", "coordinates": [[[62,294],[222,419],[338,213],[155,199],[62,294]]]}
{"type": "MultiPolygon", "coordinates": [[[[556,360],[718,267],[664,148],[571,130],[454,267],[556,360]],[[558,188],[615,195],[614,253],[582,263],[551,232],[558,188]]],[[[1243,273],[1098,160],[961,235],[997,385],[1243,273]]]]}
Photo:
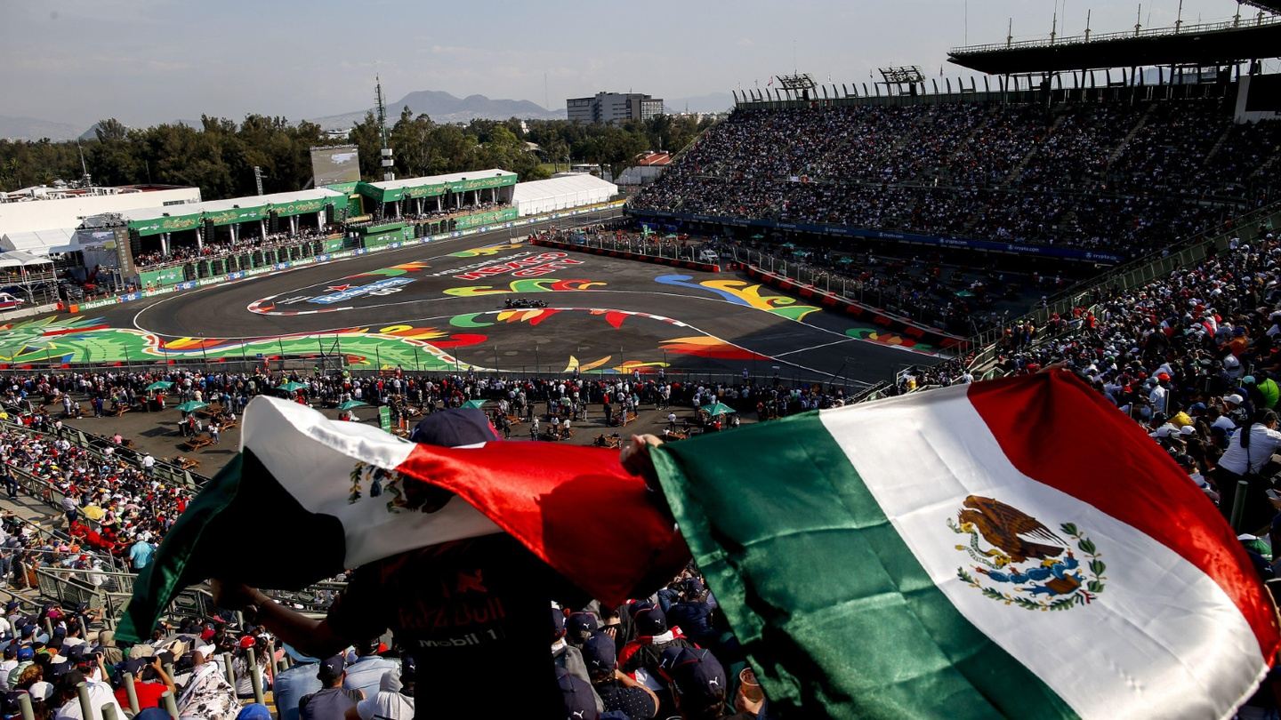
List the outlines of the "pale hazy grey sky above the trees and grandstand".
{"type": "MultiPolygon", "coordinates": [[[[1088,8],[1095,32],[1122,31],[1138,3],[0,0],[0,114],[296,119],[371,105],[375,73],[392,100],[445,90],[552,108],[598,90],[726,92],[793,67],[820,82],[890,64],[930,77],[951,46],[1003,41],[1007,18],[1016,38],[1048,35],[1057,9],[1059,33],[1075,35],[1088,8]]],[[[1177,8],[1146,0],[1144,24],[1173,24],[1177,8]]],[[[1185,22],[1235,12],[1232,0],[1184,1],[1185,22]]]]}

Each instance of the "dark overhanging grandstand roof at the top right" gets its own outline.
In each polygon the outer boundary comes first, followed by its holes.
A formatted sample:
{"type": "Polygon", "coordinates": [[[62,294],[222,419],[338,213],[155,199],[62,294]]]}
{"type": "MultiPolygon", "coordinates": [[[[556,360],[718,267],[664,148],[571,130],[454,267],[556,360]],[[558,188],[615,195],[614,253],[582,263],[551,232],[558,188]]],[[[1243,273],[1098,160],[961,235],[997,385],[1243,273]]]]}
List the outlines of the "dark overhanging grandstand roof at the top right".
{"type": "MultiPolygon", "coordinates": [[[[1262,3],[1263,0],[1261,0],[1262,3]]],[[[1281,0],[1267,0],[1281,5],[1281,0]]],[[[953,47],[948,61],[988,74],[1221,65],[1281,56],[1281,17],[953,47]]]]}

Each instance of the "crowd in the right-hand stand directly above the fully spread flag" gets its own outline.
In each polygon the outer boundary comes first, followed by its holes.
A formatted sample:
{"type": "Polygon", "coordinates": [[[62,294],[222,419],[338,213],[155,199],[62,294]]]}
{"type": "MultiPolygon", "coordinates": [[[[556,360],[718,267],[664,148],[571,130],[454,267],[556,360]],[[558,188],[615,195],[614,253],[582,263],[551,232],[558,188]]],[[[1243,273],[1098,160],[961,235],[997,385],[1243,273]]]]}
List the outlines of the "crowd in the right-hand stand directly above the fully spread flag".
{"type": "Polygon", "coordinates": [[[1246,480],[1239,529],[1272,532],[1281,547],[1281,524],[1267,529],[1276,507],[1264,495],[1281,469],[1278,338],[1281,242],[1268,233],[1045,327],[1009,328],[999,347],[1008,372],[1062,365],[1080,374],[1141,423],[1225,515],[1246,480]]]}

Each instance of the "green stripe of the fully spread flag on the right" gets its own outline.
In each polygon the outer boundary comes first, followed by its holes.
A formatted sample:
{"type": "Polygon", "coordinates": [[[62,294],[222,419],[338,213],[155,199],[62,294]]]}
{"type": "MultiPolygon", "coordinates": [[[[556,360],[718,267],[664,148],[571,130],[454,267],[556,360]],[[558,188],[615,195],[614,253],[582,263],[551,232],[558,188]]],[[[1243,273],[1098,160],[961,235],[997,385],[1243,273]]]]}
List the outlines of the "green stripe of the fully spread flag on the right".
{"type": "Polygon", "coordinates": [[[655,464],[780,710],[1076,717],[930,582],[817,413],[667,443],[655,464]]]}

